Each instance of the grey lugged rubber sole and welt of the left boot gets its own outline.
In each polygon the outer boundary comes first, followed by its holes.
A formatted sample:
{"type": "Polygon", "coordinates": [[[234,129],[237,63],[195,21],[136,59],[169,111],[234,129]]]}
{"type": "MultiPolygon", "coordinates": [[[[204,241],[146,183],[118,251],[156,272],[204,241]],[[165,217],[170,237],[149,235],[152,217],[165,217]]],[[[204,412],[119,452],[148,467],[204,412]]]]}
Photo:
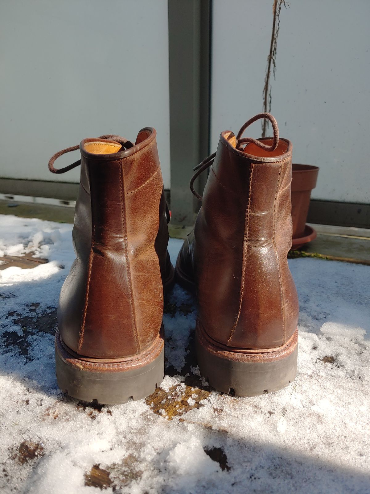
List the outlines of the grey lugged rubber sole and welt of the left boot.
{"type": "MultiPolygon", "coordinates": [[[[162,326],[163,328],[163,326],[162,326]]],[[[163,332],[150,349],[121,362],[86,360],[69,352],[55,335],[55,365],[58,386],[69,396],[101,405],[141,400],[155,391],[164,376],[163,332]]]]}

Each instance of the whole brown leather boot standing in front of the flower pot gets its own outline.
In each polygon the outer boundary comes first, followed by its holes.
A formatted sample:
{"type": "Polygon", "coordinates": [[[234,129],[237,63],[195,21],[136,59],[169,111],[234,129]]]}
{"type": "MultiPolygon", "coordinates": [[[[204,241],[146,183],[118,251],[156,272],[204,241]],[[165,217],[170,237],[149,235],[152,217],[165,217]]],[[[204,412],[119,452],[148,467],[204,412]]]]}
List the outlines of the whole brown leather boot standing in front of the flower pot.
{"type": "Polygon", "coordinates": [[[241,396],[296,377],[298,299],[287,261],[292,144],[278,132],[270,114],[259,114],[236,137],[222,132],[217,152],[194,168],[190,188],[202,207],[176,265],[178,281],[198,298],[199,370],[217,390],[241,396]],[[242,139],[259,118],[271,121],[274,138],[242,139]],[[192,184],[211,165],[202,199],[192,184]]]}

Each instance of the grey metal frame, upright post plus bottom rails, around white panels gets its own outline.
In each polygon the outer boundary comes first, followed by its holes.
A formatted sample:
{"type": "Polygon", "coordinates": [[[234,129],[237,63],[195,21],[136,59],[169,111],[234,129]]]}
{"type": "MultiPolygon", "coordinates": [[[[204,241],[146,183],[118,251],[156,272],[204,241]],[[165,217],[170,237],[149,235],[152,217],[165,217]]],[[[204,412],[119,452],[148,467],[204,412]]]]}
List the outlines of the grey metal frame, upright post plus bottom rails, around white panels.
{"type": "MultiPolygon", "coordinates": [[[[210,153],[212,0],[168,0],[168,32],[172,223],[190,226],[199,208],[192,168],[210,153]]],[[[195,184],[200,193],[206,179],[195,184]]],[[[77,190],[77,183],[0,177],[0,193],[9,196],[71,201],[77,190]]],[[[370,228],[370,205],[311,200],[308,221],[370,228]]]]}

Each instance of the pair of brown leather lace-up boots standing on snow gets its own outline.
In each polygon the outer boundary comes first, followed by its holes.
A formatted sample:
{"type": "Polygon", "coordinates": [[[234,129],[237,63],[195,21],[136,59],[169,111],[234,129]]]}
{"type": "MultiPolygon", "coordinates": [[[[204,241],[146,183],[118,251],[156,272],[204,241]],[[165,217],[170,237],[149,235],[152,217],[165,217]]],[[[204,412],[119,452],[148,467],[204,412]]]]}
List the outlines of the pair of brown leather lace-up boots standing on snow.
{"type": "MultiPolygon", "coordinates": [[[[163,290],[174,283],[167,252],[169,212],[156,146],[145,128],[135,144],[118,136],[84,139],[73,240],[60,294],[57,380],[87,402],[124,403],[151,394],[164,375],[163,290]]],[[[292,243],[292,145],[260,114],[238,135],[222,132],[195,228],[177,279],[196,291],[201,374],[219,391],[256,395],[296,376],[298,302],[288,268],[292,243]],[[258,118],[274,138],[242,139],[258,118]],[[244,149],[243,149],[244,147],[244,149]]],[[[197,196],[199,197],[199,196],[197,196]]]]}

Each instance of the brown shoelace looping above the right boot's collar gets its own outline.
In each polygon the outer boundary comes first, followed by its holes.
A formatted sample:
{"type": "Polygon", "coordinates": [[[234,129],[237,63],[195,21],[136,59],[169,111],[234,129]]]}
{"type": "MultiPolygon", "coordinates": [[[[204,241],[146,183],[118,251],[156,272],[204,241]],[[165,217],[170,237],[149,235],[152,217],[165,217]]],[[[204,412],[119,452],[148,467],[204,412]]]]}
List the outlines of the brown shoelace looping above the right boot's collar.
{"type": "MultiPolygon", "coordinates": [[[[274,119],[274,117],[270,113],[259,113],[258,115],[255,115],[252,117],[248,122],[246,122],[241,129],[239,130],[237,136],[236,136],[236,149],[238,151],[243,150],[243,145],[244,144],[249,144],[252,142],[253,144],[256,144],[261,149],[264,149],[265,151],[275,151],[275,149],[278,147],[279,144],[279,129],[277,126],[277,122],[274,119]],[[273,142],[271,146],[267,146],[267,144],[263,144],[263,142],[258,141],[257,139],[253,139],[252,137],[242,137],[245,129],[250,125],[256,122],[256,120],[259,119],[267,119],[271,122],[272,124],[272,129],[274,131],[274,137],[273,137],[273,142]]],[[[195,171],[194,175],[192,176],[190,180],[190,190],[192,194],[199,199],[199,201],[202,201],[203,198],[200,196],[195,190],[194,190],[194,181],[195,179],[203,173],[204,170],[209,168],[211,165],[213,165],[213,162],[215,161],[216,153],[211,154],[207,158],[205,158],[199,165],[194,166],[193,170],[195,171]]]]}

